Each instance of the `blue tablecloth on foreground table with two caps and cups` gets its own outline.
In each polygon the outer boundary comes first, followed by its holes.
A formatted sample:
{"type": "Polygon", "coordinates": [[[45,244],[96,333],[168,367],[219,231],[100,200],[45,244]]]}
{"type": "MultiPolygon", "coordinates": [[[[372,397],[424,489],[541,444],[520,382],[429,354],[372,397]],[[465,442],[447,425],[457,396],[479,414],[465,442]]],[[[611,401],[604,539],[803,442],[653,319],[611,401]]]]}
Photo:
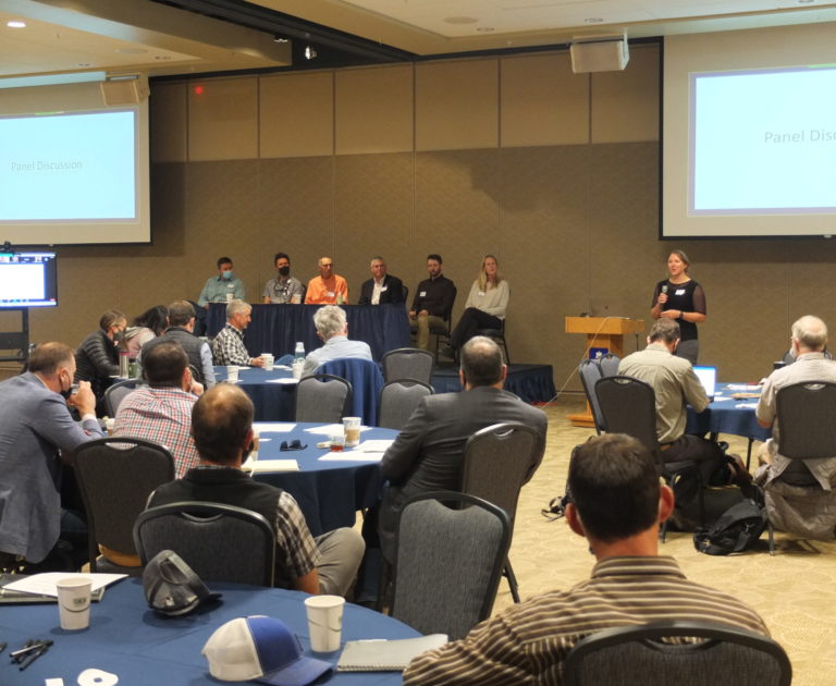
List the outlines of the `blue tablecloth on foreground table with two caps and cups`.
{"type": "MultiPolygon", "coordinates": [[[[78,674],[98,667],[116,674],[125,686],[218,686],[200,649],[224,622],[251,614],[267,614],[285,622],[310,656],[305,617],[305,593],[281,589],[210,584],[223,593],[220,603],[181,618],[167,618],[148,609],[140,579],[123,579],[108,588],[101,602],[90,609],[90,626],[82,632],[59,627],[56,603],[3,605],[0,608],[0,641],[9,644],[0,656],[0,684],[44,686],[47,678],[61,677],[75,686],[78,674]],[[29,638],[54,641],[49,651],[21,672],[9,653],[29,638]]],[[[360,638],[413,638],[419,634],[385,615],[346,604],[343,641],[360,638]]],[[[336,663],[340,652],[316,654],[336,663]]],[[[224,682],[230,683],[230,682],[224,682]]],[[[250,684],[251,682],[234,682],[250,684]]],[[[332,672],[325,681],[337,686],[394,686],[399,672],[332,672]]]]}

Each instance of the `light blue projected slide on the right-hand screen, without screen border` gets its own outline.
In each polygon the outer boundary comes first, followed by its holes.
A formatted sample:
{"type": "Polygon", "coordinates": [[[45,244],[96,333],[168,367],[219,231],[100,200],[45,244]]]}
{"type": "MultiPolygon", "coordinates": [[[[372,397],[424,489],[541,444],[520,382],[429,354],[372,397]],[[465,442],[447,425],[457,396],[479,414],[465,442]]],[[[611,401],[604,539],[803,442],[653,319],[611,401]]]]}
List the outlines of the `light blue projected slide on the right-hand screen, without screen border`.
{"type": "Polygon", "coordinates": [[[691,74],[688,211],[836,209],[836,69],[691,74]]]}

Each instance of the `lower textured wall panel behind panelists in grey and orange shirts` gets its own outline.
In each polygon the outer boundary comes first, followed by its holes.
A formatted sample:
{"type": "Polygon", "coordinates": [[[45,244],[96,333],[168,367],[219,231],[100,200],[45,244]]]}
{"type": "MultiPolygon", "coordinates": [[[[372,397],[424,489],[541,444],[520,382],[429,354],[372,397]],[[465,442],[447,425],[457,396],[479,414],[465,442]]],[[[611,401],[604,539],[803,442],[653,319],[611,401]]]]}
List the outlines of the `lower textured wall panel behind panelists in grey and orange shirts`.
{"type": "MultiPolygon", "coordinates": [[[[316,277],[323,255],[342,264],[334,240],[334,160],[304,157],[261,160],[258,191],[258,299],[275,275],[275,253],[291,256],[291,273],[303,283],[316,277]]],[[[255,291],[254,291],[255,293],[255,291]]]]}

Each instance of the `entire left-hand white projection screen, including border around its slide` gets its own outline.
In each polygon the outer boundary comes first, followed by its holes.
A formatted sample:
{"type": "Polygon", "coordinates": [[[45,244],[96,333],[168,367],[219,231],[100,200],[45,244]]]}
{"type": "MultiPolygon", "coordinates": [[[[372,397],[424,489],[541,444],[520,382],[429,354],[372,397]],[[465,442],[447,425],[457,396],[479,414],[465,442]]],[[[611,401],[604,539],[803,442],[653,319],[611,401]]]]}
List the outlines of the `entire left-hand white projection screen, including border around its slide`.
{"type": "Polygon", "coordinates": [[[0,243],[148,243],[148,103],[98,84],[0,90],[0,243]]]}

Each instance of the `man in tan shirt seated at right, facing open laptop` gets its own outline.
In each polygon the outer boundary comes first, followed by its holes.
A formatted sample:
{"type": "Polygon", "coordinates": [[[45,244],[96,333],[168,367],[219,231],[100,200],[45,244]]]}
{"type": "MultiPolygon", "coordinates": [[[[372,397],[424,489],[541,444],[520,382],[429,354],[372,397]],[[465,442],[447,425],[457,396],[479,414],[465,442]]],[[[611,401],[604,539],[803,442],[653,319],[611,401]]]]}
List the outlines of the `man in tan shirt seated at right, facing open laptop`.
{"type": "Polygon", "coordinates": [[[717,443],[685,432],[686,406],[700,413],[710,401],[691,363],[674,355],[678,344],[679,324],[673,319],[657,319],[648,335],[648,346],[627,355],[618,365],[618,373],[653,388],[656,436],[665,462],[689,460],[698,463],[705,486],[728,483],[733,478],[746,485],[751,477],[739,457],[726,456],[717,443]]]}

